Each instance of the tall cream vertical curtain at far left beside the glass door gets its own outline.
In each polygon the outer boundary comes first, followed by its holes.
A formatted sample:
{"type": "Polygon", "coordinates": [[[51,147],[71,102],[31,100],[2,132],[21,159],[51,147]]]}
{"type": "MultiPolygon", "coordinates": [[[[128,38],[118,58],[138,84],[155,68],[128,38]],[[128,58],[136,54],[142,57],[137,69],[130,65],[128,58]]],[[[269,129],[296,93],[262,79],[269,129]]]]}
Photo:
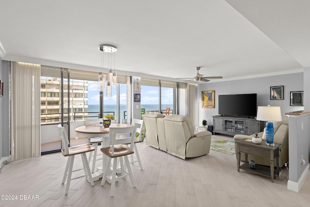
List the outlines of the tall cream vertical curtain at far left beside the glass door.
{"type": "Polygon", "coordinates": [[[40,69],[11,62],[11,157],[40,156],[40,69]]]}

